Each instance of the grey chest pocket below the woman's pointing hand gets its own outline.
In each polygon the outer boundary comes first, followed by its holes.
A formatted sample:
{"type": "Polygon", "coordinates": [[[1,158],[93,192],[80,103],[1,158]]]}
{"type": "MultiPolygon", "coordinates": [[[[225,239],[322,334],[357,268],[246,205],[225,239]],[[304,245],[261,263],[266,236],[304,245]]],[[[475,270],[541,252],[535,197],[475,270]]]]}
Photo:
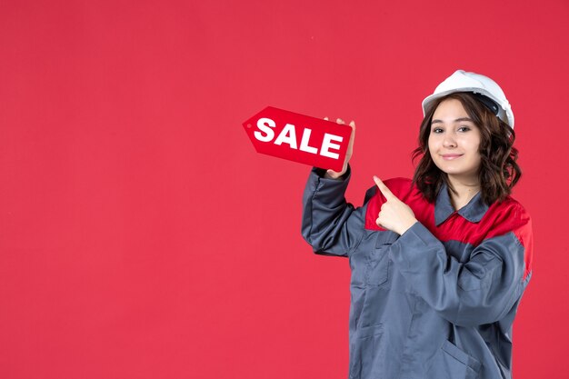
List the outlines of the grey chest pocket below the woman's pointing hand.
{"type": "Polygon", "coordinates": [[[368,285],[382,285],[389,279],[389,246],[399,234],[391,231],[378,232],[374,249],[367,257],[364,281],[368,285]]]}

